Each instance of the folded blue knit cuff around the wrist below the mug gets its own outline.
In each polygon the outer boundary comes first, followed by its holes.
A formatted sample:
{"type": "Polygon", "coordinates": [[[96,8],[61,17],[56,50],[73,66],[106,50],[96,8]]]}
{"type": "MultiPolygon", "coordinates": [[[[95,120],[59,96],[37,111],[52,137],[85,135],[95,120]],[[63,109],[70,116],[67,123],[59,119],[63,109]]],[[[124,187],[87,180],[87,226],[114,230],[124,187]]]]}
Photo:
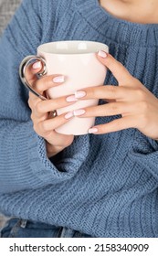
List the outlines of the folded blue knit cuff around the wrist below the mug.
{"type": "Polygon", "coordinates": [[[42,137],[33,133],[29,142],[29,165],[41,186],[57,184],[75,176],[90,151],[89,135],[76,137],[73,144],[59,153],[58,157],[50,159],[47,158],[46,143],[42,137]]]}

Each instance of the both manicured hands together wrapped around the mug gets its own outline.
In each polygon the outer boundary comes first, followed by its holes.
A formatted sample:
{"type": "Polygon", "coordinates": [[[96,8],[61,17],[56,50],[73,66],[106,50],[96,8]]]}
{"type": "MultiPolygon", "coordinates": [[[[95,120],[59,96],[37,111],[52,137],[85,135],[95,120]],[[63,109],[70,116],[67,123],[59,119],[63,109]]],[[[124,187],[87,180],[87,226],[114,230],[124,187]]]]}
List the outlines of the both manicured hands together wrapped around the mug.
{"type": "MultiPolygon", "coordinates": [[[[46,140],[47,157],[57,155],[73,142],[73,135],[59,134],[55,129],[67,123],[74,115],[82,118],[121,115],[120,119],[91,127],[89,133],[111,133],[127,128],[137,128],[148,137],[155,140],[158,138],[158,99],[110,54],[100,51],[97,58],[111,70],[119,86],[92,87],[77,91],[75,95],[47,101],[42,101],[31,92],[29,93],[28,104],[32,111],[34,130],[46,140]],[[108,103],[68,112],[56,118],[51,117],[51,112],[56,109],[71,105],[75,101],[88,99],[102,99],[108,103]]],[[[36,62],[27,70],[27,80],[39,93],[45,94],[47,89],[64,82],[63,75],[45,76],[37,80],[36,74],[40,69],[41,63],[36,62]]]]}

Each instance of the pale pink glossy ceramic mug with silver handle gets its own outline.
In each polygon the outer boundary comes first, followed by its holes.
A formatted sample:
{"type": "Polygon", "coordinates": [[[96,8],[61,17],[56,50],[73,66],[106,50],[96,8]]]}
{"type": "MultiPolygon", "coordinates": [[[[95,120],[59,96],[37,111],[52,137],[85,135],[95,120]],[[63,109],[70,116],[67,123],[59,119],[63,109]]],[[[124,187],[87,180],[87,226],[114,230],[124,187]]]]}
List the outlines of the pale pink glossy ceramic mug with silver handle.
{"type": "MultiPolygon", "coordinates": [[[[100,63],[96,57],[99,50],[109,51],[107,45],[92,41],[58,41],[40,45],[37,48],[37,57],[27,57],[27,63],[30,59],[43,62],[45,66],[42,75],[62,74],[66,80],[63,84],[47,90],[49,98],[58,98],[61,96],[75,94],[76,91],[84,90],[84,88],[92,86],[100,86],[103,84],[107,69],[100,63]]],[[[23,62],[24,67],[24,62],[23,62]]],[[[20,77],[24,82],[24,72],[20,77]]],[[[23,70],[24,71],[24,70],[23,70]]],[[[41,75],[41,74],[40,74],[41,75]]],[[[25,80],[26,81],[26,80],[25,80]]],[[[25,83],[25,82],[24,82],[25,83]]],[[[28,87],[28,84],[25,84],[28,87]]],[[[33,91],[29,87],[29,90],[33,91]]],[[[36,93],[38,97],[38,93],[36,93]]],[[[40,97],[42,99],[42,96],[40,97]]],[[[46,99],[43,99],[46,100],[46,99]]],[[[98,104],[98,100],[91,99],[85,101],[77,101],[71,106],[57,110],[58,115],[65,112],[73,112],[78,109],[84,109],[88,106],[98,104]]],[[[68,123],[58,127],[58,133],[64,134],[86,134],[91,126],[95,123],[95,118],[81,118],[74,116],[68,123]]]]}

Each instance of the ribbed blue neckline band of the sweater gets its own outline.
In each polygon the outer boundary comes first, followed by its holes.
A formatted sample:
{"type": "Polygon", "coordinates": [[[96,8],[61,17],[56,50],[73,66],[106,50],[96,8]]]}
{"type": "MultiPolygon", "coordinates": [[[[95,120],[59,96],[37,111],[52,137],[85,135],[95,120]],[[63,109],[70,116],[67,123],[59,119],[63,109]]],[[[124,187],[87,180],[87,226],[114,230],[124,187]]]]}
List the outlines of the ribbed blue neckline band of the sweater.
{"type": "Polygon", "coordinates": [[[83,19],[103,37],[127,46],[158,46],[158,24],[143,25],[112,16],[99,0],[78,0],[76,6],[83,19]]]}

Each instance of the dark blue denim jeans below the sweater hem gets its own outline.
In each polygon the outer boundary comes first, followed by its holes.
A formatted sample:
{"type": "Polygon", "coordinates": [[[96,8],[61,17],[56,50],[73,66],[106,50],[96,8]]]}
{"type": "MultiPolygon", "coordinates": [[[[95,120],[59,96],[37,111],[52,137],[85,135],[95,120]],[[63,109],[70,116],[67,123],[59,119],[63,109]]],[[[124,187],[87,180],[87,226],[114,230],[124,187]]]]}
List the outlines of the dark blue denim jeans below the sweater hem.
{"type": "Polygon", "coordinates": [[[25,219],[9,219],[0,230],[1,238],[90,238],[77,230],[25,219]]]}

